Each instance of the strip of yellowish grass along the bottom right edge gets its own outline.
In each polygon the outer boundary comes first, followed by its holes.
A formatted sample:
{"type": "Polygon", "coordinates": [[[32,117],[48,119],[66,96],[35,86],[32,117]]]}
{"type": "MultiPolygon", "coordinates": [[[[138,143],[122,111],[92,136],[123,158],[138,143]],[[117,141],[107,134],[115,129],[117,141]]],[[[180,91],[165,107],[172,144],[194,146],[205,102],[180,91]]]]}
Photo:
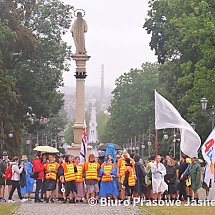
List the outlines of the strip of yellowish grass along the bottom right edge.
{"type": "Polygon", "coordinates": [[[140,214],[144,215],[214,215],[214,206],[142,206],[140,214]]]}

